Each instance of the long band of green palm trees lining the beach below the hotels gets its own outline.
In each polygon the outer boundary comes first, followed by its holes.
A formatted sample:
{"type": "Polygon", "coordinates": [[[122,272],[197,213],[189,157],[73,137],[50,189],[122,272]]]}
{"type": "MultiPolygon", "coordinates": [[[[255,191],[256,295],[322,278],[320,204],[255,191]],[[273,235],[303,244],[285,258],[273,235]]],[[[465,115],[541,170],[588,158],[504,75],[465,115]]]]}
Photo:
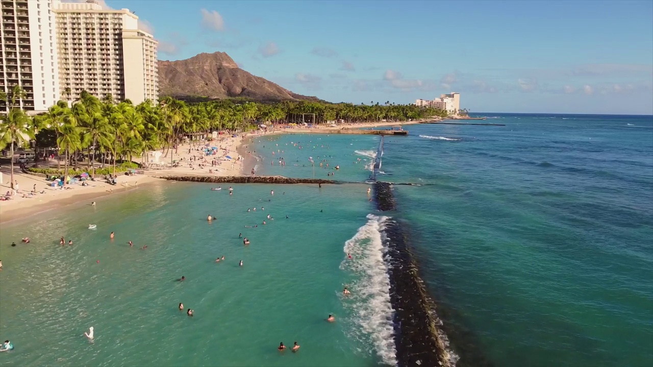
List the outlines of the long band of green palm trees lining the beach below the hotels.
{"type": "Polygon", "coordinates": [[[185,135],[227,129],[232,132],[255,129],[257,123],[325,123],[347,121],[406,121],[431,116],[446,116],[440,110],[419,108],[411,104],[321,103],[284,101],[253,103],[245,101],[210,101],[187,104],[165,97],[154,104],[144,101],[134,105],[129,100],[116,103],[110,95],[103,99],[80,93],[77,101],[59,101],[44,114],[28,116],[20,108],[25,92],[16,86],[9,95],[0,94],[8,113],[0,115],[0,148],[10,147],[11,182],[14,184],[14,146],[24,146],[35,139],[37,147],[54,148],[65,156],[65,177],[78,153],[88,156],[88,170],[95,174],[95,162],[104,167],[134,156],[145,158],[151,150],[165,151],[172,162],[176,144],[185,135]],[[48,137],[51,139],[48,141],[48,137]]]}

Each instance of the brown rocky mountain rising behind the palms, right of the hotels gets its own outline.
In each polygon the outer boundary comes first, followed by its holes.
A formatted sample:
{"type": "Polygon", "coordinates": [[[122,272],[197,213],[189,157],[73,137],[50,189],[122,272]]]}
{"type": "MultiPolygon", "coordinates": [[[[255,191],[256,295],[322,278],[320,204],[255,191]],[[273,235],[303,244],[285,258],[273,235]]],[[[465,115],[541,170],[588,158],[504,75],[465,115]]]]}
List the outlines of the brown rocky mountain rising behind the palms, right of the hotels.
{"type": "Polygon", "coordinates": [[[210,99],[248,97],[261,101],[317,100],[240,69],[225,52],[202,53],[178,61],[159,60],[159,95],[210,99]]]}

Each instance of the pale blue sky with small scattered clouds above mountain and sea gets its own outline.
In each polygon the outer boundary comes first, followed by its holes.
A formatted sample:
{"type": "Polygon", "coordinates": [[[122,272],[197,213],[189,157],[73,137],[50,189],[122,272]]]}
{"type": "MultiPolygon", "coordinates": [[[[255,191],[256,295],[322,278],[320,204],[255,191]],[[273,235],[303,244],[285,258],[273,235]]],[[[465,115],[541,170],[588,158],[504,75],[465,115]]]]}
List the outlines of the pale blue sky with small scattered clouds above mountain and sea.
{"type": "Polygon", "coordinates": [[[331,102],[653,114],[653,1],[140,1],[159,59],[227,52],[331,102]]]}

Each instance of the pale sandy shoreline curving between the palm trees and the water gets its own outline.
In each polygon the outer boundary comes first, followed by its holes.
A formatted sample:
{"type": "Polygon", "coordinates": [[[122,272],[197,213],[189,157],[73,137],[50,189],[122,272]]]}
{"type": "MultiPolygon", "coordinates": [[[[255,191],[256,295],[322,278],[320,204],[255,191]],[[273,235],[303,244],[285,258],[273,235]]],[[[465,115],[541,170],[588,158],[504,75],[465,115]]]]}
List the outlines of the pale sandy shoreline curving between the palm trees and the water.
{"type": "MultiPolygon", "coordinates": [[[[440,120],[440,119],[430,119],[440,120]]],[[[383,127],[383,126],[400,126],[421,123],[425,120],[415,121],[378,121],[370,123],[357,123],[357,124],[342,124],[338,126],[319,127],[320,130],[338,131],[340,129],[361,129],[365,127],[383,127]]],[[[23,189],[14,195],[14,199],[0,202],[0,223],[9,224],[10,222],[24,219],[31,215],[41,214],[52,209],[61,208],[61,206],[69,206],[77,202],[83,202],[101,197],[106,197],[115,193],[130,191],[153,182],[165,181],[159,176],[251,176],[251,170],[259,163],[257,157],[247,151],[247,147],[255,138],[270,136],[270,135],[283,135],[283,134],[311,134],[317,133],[313,128],[289,128],[289,129],[272,129],[268,131],[254,131],[244,135],[225,136],[217,143],[221,155],[216,159],[220,165],[215,167],[199,168],[199,167],[184,167],[189,162],[189,158],[193,155],[200,157],[197,151],[200,149],[199,142],[191,142],[190,144],[180,144],[177,153],[174,154],[173,160],[182,162],[180,167],[176,168],[163,168],[163,169],[145,169],[144,174],[137,174],[135,176],[125,176],[118,174],[118,185],[112,186],[102,181],[89,181],[88,187],[81,187],[79,185],[71,185],[70,190],[61,190],[51,187],[46,180],[40,176],[33,174],[25,174],[14,168],[14,180],[16,180],[20,187],[23,189]],[[225,157],[232,157],[227,159],[225,157]],[[174,159],[176,158],[176,159],[174,159]],[[231,167],[229,166],[231,163],[231,167]],[[198,168],[198,169],[195,169],[198,168]],[[210,171],[209,171],[210,169],[210,171]],[[30,197],[23,197],[32,190],[33,185],[36,185],[37,194],[30,197]],[[28,191],[25,191],[27,189],[28,191]],[[42,193],[41,193],[42,192],[42,193]]],[[[163,158],[161,161],[166,161],[163,158]]],[[[134,161],[140,162],[140,159],[134,161]]],[[[5,192],[10,189],[10,175],[8,167],[3,167],[4,183],[0,185],[0,191],[5,192]]]]}

